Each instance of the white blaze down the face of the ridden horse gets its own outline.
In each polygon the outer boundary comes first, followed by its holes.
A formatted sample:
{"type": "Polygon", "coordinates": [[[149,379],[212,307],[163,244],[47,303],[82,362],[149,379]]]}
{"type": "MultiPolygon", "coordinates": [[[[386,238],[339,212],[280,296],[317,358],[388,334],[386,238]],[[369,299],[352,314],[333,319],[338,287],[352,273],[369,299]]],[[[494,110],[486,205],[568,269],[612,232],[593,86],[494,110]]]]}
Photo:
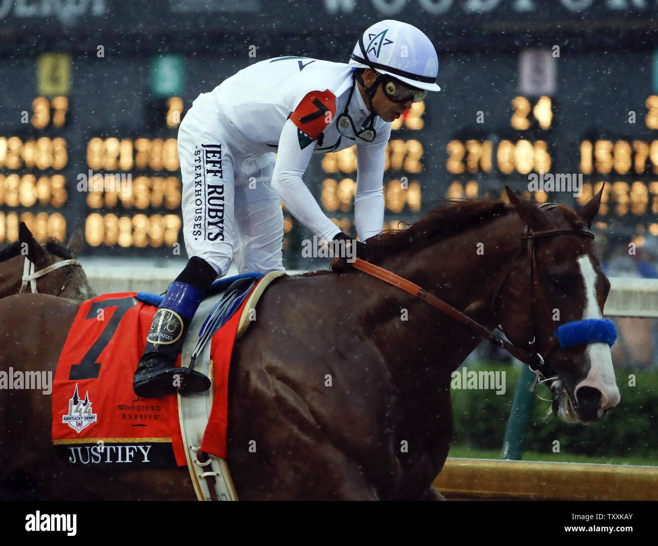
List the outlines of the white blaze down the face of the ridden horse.
{"type": "MultiPolygon", "coordinates": [[[[578,258],[580,273],[585,283],[585,308],[582,313],[583,319],[602,319],[601,310],[596,300],[596,272],[589,256],[578,258]]],[[[592,387],[601,393],[601,408],[599,408],[599,417],[603,411],[613,408],[619,404],[619,389],[615,381],[615,371],[613,370],[613,359],[610,347],[607,343],[590,343],[588,344],[585,355],[590,362],[590,371],[587,377],[576,385],[574,396],[578,400],[578,391],[582,387],[592,387]]]]}

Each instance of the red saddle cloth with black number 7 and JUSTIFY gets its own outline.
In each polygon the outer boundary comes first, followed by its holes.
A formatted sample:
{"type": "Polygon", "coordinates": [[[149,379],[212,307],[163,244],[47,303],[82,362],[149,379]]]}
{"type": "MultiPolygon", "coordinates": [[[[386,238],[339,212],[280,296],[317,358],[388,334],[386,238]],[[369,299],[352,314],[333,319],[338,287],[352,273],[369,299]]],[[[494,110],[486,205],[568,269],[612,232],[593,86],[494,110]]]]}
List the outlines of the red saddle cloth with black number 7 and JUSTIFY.
{"type": "MultiPolygon", "coordinates": [[[[203,446],[222,457],[229,364],[246,302],[211,342],[215,398],[203,446]]],[[[126,470],[186,465],[176,395],[138,398],[132,389],[156,310],[138,302],[136,292],[104,294],[80,306],[53,381],[53,443],[70,464],[126,470]]]]}

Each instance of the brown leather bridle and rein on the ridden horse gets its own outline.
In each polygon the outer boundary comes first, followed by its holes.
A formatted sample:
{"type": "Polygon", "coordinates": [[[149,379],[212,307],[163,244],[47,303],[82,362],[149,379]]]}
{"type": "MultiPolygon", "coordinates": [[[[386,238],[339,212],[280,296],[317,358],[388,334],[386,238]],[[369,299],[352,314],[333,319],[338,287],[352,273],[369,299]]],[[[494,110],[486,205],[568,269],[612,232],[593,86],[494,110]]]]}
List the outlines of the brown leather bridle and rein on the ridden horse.
{"type": "MultiPolygon", "coordinates": [[[[558,205],[555,203],[545,203],[540,206],[540,209],[550,209],[556,206],[558,205]]],[[[382,279],[382,281],[386,281],[390,285],[393,285],[397,288],[401,288],[401,290],[405,290],[405,292],[408,292],[412,296],[416,296],[417,298],[424,300],[428,304],[442,310],[445,314],[450,315],[454,319],[457,319],[459,322],[461,322],[462,324],[464,324],[465,326],[476,332],[478,335],[482,337],[486,337],[497,346],[509,352],[512,356],[514,356],[521,362],[524,362],[524,364],[530,366],[530,369],[532,369],[532,371],[538,372],[540,373],[540,375],[544,376],[545,378],[551,379],[552,378],[551,376],[555,374],[551,371],[551,369],[549,369],[545,365],[544,359],[555,348],[555,346],[557,346],[558,340],[557,337],[555,336],[555,329],[554,329],[553,332],[551,332],[551,342],[549,343],[547,348],[545,348],[544,351],[540,351],[539,343],[537,341],[537,329],[536,329],[534,310],[532,305],[533,284],[536,285],[537,289],[539,290],[538,299],[541,302],[542,308],[544,308],[544,311],[547,314],[549,320],[551,320],[551,322],[553,320],[551,317],[551,312],[548,308],[548,305],[544,297],[542,284],[540,283],[539,271],[537,268],[537,260],[536,260],[536,247],[534,245],[534,240],[540,237],[557,236],[562,234],[578,235],[578,236],[590,237],[594,239],[594,233],[592,233],[590,230],[584,227],[582,229],[548,229],[545,231],[534,231],[530,227],[526,227],[524,232],[521,234],[521,238],[527,240],[527,244],[526,244],[526,249],[527,249],[526,250],[526,283],[527,283],[527,294],[528,294],[527,321],[528,324],[530,325],[533,334],[532,341],[529,341],[527,343],[528,349],[521,348],[505,339],[502,339],[501,337],[498,337],[490,329],[482,326],[480,323],[474,321],[470,317],[467,317],[467,315],[453,308],[453,306],[443,302],[443,300],[440,300],[436,296],[433,296],[432,294],[430,294],[423,288],[419,287],[418,285],[415,285],[411,281],[408,281],[403,277],[399,277],[399,275],[395,275],[395,273],[393,273],[392,271],[388,271],[388,269],[384,269],[383,267],[379,267],[378,265],[369,263],[368,261],[365,261],[361,258],[356,258],[353,263],[353,266],[355,267],[355,269],[359,269],[364,273],[368,273],[368,275],[372,275],[373,277],[382,279]]],[[[493,292],[493,297],[490,304],[490,309],[492,310],[492,312],[493,312],[495,301],[497,300],[501,292],[501,288],[503,287],[503,285],[505,285],[505,282],[507,281],[509,275],[515,269],[515,267],[517,267],[517,264],[519,263],[519,260],[522,256],[523,247],[524,247],[523,244],[519,246],[519,250],[517,250],[517,254],[512,259],[507,269],[505,270],[505,275],[501,277],[501,280],[499,281],[497,287],[493,292]]],[[[495,312],[493,312],[493,314],[495,316],[495,312]]]]}

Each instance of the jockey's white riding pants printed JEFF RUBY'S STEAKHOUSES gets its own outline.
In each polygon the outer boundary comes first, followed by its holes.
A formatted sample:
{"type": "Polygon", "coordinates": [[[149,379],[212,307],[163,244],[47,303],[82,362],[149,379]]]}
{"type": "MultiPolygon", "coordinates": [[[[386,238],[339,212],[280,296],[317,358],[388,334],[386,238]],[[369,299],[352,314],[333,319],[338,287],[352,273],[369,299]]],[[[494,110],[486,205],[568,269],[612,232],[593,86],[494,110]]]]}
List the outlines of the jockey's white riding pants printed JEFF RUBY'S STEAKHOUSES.
{"type": "Polygon", "coordinates": [[[205,259],[219,277],[232,260],[239,273],[285,271],[283,210],[270,185],[274,153],[240,155],[228,130],[213,121],[212,105],[201,95],[178,130],[188,257],[205,259]]]}

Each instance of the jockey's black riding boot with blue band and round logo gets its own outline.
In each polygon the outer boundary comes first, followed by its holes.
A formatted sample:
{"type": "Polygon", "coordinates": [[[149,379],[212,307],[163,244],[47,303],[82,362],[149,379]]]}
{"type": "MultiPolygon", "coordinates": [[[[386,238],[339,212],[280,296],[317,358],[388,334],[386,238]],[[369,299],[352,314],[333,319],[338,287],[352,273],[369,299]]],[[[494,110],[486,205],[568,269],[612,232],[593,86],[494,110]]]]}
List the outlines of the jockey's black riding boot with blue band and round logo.
{"type": "Polygon", "coordinates": [[[177,368],[175,364],[194,313],[215,277],[215,270],[207,262],[194,257],[178,279],[169,285],[153,316],[144,354],[135,372],[133,389],[136,395],[153,398],[179,390],[201,392],[210,387],[211,382],[203,373],[185,366],[177,368]],[[201,279],[198,278],[199,269],[205,273],[201,279]],[[197,286],[183,281],[190,277],[197,286]],[[198,285],[205,285],[205,288],[198,285]]]}

